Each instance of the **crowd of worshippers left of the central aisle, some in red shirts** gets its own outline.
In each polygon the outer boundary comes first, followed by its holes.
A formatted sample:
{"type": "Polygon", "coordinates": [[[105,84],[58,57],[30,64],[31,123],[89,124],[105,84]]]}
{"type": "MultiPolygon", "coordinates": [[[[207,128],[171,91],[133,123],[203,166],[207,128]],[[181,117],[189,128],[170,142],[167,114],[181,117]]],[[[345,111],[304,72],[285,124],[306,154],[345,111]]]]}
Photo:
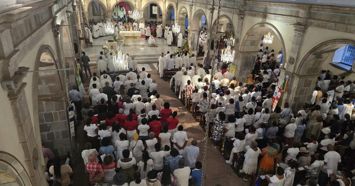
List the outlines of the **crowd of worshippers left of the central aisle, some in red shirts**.
{"type": "Polygon", "coordinates": [[[109,80],[97,89],[101,83],[95,75],[89,88],[91,104],[86,102],[81,112],[77,110],[85,123],[82,158],[89,183],[201,185],[197,141],[187,144],[178,112],[172,112],[169,102],[160,97],[155,79],[144,68],[139,75],[120,74],[113,83],[103,74],[100,78],[109,80]]]}

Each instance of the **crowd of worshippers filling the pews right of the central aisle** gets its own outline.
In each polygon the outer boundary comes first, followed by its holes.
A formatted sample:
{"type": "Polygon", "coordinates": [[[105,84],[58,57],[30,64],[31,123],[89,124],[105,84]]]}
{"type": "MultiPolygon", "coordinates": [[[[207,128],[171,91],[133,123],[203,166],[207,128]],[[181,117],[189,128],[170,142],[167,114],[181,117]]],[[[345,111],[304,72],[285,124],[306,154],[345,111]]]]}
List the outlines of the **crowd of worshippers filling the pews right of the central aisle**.
{"type": "Polygon", "coordinates": [[[305,167],[309,185],[349,186],[353,177],[349,169],[354,165],[340,163],[355,152],[355,82],[345,83],[345,77],[334,75],[331,86],[324,88],[330,75],[322,71],[311,100],[304,100],[302,109],[291,110],[288,102],[283,109],[273,107],[275,88],[281,86],[279,61],[269,59],[267,48],[261,50],[266,61],[256,63],[245,83],[237,82],[229,65],[218,62],[217,57],[212,85],[212,67],[198,62],[187,72],[179,67],[170,83],[175,85],[175,92],[180,89],[179,98],[190,100],[194,111],[202,113],[201,119],[210,126],[213,146],[224,146],[226,139],[235,139],[226,163],[232,164],[234,154],[243,154],[244,180],[250,180],[252,173],[276,173],[266,178],[271,185],[285,182],[291,186],[295,168],[305,167]],[[284,166],[278,167],[281,163],[284,166]],[[338,179],[340,176],[342,179],[338,179]]]}

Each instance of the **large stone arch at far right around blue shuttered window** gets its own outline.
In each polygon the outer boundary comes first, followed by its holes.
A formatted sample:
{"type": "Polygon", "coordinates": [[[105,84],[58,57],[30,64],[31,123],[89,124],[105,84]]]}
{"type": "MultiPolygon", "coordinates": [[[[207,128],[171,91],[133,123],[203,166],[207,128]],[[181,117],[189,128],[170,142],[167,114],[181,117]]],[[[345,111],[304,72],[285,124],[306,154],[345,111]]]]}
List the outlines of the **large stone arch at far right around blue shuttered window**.
{"type": "MultiPolygon", "coordinates": [[[[333,75],[338,75],[339,78],[342,76],[345,77],[345,82],[347,80],[354,80],[354,73],[332,63],[334,53],[345,45],[355,46],[355,40],[333,39],[325,41],[313,47],[302,58],[294,74],[296,78],[293,79],[295,80],[291,79],[290,81],[288,88],[288,94],[290,94],[290,96],[286,98],[287,100],[292,99],[294,101],[291,107],[292,109],[301,108],[305,100],[311,100],[312,92],[316,86],[317,77],[320,76],[321,70],[329,70],[331,78],[333,75]]],[[[325,83],[327,84],[327,82],[325,83]]],[[[322,91],[324,90],[322,89],[322,91]]]]}

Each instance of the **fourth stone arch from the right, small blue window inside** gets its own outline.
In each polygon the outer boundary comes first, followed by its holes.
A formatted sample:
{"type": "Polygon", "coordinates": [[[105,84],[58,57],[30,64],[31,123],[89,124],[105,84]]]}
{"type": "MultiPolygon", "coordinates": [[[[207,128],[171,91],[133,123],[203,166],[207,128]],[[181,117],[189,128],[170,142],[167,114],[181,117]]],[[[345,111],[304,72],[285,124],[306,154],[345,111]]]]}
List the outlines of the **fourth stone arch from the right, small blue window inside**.
{"type": "Polygon", "coordinates": [[[189,46],[194,53],[197,51],[198,36],[200,35],[200,30],[203,28],[207,29],[206,14],[199,9],[193,14],[189,22],[190,35],[188,40],[191,42],[189,46]]]}

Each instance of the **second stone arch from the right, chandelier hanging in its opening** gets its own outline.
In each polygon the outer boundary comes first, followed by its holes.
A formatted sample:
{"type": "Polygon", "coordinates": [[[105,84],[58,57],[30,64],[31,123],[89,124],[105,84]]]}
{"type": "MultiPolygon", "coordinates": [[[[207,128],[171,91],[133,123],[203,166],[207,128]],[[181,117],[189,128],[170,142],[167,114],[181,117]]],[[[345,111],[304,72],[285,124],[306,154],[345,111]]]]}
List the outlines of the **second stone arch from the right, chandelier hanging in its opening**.
{"type": "MultiPolygon", "coordinates": [[[[285,42],[284,42],[284,39],[283,39],[281,33],[279,32],[279,30],[273,24],[267,23],[267,22],[257,23],[254,26],[252,26],[246,32],[246,34],[245,34],[245,36],[244,36],[244,38],[242,40],[242,43],[240,45],[240,51],[241,52],[253,52],[253,51],[255,51],[257,53],[257,51],[259,49],[259,46],[260,46],[261,38],[269,30],[272,30],[272,32],[280,40],[283,56],[286,56],[285,42]]],[[[285,57],[283,58],[283,61],[284,61],[284,59],[285,59],[285,57]]]]}

